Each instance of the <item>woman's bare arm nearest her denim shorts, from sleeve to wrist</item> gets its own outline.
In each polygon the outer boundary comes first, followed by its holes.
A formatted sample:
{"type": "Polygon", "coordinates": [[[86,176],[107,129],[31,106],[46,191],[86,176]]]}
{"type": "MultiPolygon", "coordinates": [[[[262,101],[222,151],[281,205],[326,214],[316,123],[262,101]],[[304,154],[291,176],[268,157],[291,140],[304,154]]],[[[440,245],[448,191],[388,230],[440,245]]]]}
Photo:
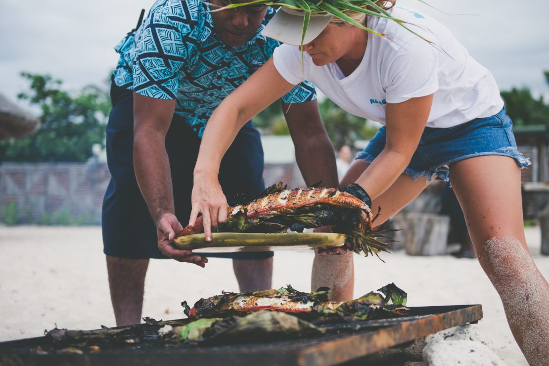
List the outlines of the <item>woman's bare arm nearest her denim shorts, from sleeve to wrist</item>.
{"type": "Polygon", "coordinates": [[[386,105],[385,148],[356,181],[370,198],[374,199],[385,192],[410,163],[432,103],[433,94],[430,94],[386,105]]]}

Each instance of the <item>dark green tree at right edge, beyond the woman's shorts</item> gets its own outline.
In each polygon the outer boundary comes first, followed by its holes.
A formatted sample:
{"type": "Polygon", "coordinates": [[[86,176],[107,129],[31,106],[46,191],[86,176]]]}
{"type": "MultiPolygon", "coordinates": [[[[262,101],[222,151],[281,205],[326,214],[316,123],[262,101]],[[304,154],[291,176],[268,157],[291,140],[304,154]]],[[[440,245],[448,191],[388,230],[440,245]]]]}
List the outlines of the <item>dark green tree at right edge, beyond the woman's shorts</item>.
{"type": "MultiPolygon", "coordinates": [[[[544,72],[549,84],[549,71],[544,72]]],[[[529,88],[502,91],[507,115],[515,125],[549,125],[549,103],[543,97],[534,98],[529,88]]]]}

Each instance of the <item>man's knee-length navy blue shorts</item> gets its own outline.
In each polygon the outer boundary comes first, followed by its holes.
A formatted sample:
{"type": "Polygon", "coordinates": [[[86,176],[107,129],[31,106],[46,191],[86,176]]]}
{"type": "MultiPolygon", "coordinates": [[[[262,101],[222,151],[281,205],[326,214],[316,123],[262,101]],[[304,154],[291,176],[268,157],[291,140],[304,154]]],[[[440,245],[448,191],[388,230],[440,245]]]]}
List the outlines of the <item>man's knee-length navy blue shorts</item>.
{"type": "MultiPolygon", "coordinates": [[[[167,258],[133,171],[133,92],[111,86],[113,109],[107,124],[107,162],[111,179],[103,199],[103,251],[124,258],[167,258]]],[[[175,214],[183,227],[191,215],[193,171],[200,138],[182,117],[174,115],[166,134],[175,214]]],[[[253,200],[265,189],[263,149],[251,121],[240,130],[221,161],[219,180],[231,206],[253,200]]],[[[205,254],[208,257],[262,259],[272,252],[205,254]]]]}

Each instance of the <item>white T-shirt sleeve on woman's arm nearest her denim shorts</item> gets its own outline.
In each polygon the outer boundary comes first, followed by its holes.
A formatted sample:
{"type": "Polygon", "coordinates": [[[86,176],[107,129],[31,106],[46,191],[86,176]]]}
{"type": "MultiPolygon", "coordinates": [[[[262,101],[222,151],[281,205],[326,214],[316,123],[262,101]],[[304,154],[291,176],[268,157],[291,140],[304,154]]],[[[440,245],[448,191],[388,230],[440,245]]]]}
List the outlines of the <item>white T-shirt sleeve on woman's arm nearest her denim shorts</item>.
{"type": "Polygon", "coordinates": [[[385,100],[387,103],[401,103],[410,98],[433,94],[439,88],[438,52],[436,46],[417,36],[397,48],[383,72],[385,100]]]}

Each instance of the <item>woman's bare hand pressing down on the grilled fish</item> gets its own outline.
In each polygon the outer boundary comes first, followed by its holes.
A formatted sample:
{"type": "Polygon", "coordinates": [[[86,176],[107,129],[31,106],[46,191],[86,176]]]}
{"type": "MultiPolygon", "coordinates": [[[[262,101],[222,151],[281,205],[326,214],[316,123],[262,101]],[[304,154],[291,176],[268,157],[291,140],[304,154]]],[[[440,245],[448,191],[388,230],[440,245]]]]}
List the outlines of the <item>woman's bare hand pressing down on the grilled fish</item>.
{"type": "Polygon", "coordinates": [[[189,226],[193,227],[198,214],[202,213],[204,235],[211,241],[211,231],[218,223],[227,221],[227,199],[217,177],[203,177],[195,173],[193,193],[191,196],[192,211],[189,226]]]}

